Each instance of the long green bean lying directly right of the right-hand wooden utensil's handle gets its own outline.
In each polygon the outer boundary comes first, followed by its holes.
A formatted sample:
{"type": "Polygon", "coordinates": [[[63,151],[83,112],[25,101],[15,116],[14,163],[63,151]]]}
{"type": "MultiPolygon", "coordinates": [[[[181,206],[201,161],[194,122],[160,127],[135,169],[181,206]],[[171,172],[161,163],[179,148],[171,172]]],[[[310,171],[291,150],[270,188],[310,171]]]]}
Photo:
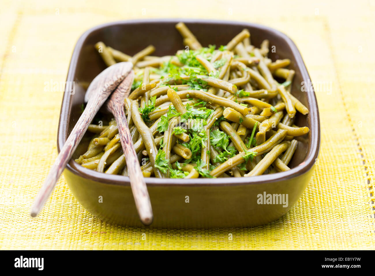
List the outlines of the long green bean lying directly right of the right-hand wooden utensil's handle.
{"type": "Polygon", "coordinates": [[[155,158],[157,154],[157,148],[154,142],[154,137],[150,128],[148,128],[147,125],[143,122],[142,117],[138,112],[137,101],[132,102],[131,110],[132,110],[132,118],[133,118],[134,125],[137,128],[139,134],[141,134],[142,142],[144,143],[145,148],[147,150],[148,157],[150,158],[151,165],[154,169],[154,173],[156,177],[161,178],[163,177],[162,173],[157,167],[155,167],[155,158]]]}

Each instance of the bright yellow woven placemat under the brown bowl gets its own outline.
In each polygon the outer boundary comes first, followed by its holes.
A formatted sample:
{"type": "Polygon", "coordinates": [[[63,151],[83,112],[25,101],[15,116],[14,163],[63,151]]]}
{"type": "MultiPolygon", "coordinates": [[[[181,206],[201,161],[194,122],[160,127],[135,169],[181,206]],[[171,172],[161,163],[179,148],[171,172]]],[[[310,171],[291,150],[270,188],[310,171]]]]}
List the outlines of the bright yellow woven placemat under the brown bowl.
{"type": "Polygon", "coordinates": [[[0,249],[375,249],[375,2],[349,3],[2,1],[0,249]],[[45,82],[65,81],[85,30],[145,17],[250,21],[296,42],[317,90],[321,152],[305,193],[285,216],[254,228],[126,228],[89,214],[63,178],[40,216],[28,216],[57,156],[63,91],[45,91],[45,82]]]}

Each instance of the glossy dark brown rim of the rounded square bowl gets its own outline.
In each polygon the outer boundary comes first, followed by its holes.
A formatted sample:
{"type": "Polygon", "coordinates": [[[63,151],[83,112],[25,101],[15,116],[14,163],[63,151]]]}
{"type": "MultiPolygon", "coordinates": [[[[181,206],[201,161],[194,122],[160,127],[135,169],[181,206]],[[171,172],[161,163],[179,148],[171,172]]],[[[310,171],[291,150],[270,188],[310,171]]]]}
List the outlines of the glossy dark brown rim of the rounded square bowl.
{"type": "MultiPolygon", "coordinates": [[[[92,27],[91,29],[84,32],[77,41],[77,44],[74,47],[72,58],[69,64],[68,75],[66,77],[66,81],[74,81],[75,71],[77,69],[77,61],[81,49],[84,45],[84,42],[89,37],[92,32],[96,30],[104,29],[107,27],[118,26],[118,25],[126,25],[126,24],[152,24],[152,23],[178,23],[184,22],[187,24],[199,23],[199,24],[229,24],[229,25],[241,25],[241,26],[249,26],[256,29],[261,29],[264,32],[273,33],[284,39],[287,42],[288,46],[292,50],[292,54],[296,59],[296,65],[301,71],[302,79],[303,80],[311,80],[307,68],[305,66],[305,62],[303,62],[302,56],[294,42],[284,33],[273,29],[271,27],[267,27],[260,24],[249,23],[249,22],[242,22],[242,21],[226,21],[226,20],[203,20],[203,19],[192,19],[192,18],[163,18],[163,19],[137,19],[137,20],[122,20],[122,21],[114,21],[110,23],[100,24],[98,26],[92,27]]],[[[309,114],[308,114],[308,122],[310,122],[310,133],[311,133],[311,142],[308,146],[308,155],[305,157],[304,161],[299,164],[298,166],[294,167],[285,172],[273,173],[269,175],[257,175],[252,176],[251,178],[248,177],[238,177],[238,178],[231,178],[228,181],[228,178],[215,178],[214,181],[212,178],[196,178],[196,179],[181,179],[178,178],[178,183],[176,183],[176,179],[174,178],[155,178],[155,177],[146,177],[145,182],[147,186],[237,186],[237,185],[251,185],[251,184],[262,184],[264,182],[272,183],[272,182],[279,182],[285,181],[291,178],[295,178],[297,176],[303,175],[304,173],[308,172],[313,166],[315,161],[318,158],[319,150],[320,150],[320,119],[319,119],[319,110],[318,110],[318,103],[317,98],[315,95],[314,88],[311,90],[306,91],[308,95],[308,106],[309,106],[309,114]]],[[[61,104],[61,111],[60,111],[60,118],[58,122],[58,131],[57,131],[57,150],[60,152],[63,144],[67,138],[68,132],[68,124],[67,119],[69,118],[69,109],[71,107],[72,95],[70,95],[68,87],[63,95],[63,100],[61,104]]],[[[74,173],[75,175],[81,176],[83,178],[89,178],[93,181],[109,184],[109,185],[120,185],[120,186],[130,186],[129,177],[122,176],[122,175],[110,175],[105,174],[102,172],[96,172],[94,170],[87,169],[83,166],[80,166],[76,163],[73,159],[69,161],[66,166],[70,172],[74,173]]]]}

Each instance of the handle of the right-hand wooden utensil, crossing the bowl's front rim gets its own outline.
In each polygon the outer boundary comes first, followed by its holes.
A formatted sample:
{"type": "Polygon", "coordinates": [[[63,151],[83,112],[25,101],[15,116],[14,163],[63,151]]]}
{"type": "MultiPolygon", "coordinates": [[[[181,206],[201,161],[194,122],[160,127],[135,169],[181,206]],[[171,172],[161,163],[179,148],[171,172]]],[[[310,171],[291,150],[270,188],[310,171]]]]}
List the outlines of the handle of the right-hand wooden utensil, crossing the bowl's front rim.
{"type": "Polygon", "coordinates": [[[130,187],[132,188],[135,206],[138,210],[139,219],[144,225],[150,225],[153,221],[150,197],[143,178],[137,154],[134,149],[129,126],[127,125],[124,106],[115,104],[112,107],[113,115],[118,126],[118,134],[122,149],[124,151],[126,166],[129,172],[130,187]]]}

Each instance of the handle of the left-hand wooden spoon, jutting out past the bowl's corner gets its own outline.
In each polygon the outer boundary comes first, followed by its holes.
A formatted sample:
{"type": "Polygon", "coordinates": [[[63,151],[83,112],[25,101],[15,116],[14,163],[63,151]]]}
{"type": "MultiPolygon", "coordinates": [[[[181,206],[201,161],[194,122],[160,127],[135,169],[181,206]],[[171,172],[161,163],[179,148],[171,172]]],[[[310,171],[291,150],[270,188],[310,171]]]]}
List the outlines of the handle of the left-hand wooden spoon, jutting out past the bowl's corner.
{"type": "MultiPolygon", "coordinates": [[[[105,100],[105,99],[104,99],[105,100]]],[[[103,100],[103,101],[104,101],[103,100]]],[[[71,134],[58,154],[55,163],[52,165],[47,178],[45,179],[42,187],[40,188],[33,206],[31,207],[30,215],[36,217],[39,211],[42,209],[43,205],[47,201],[48,197],[51,195],[57,180],[60,178],[66,164],[72,158],[75,149],[80,143],[83,135],[85,134],[90,122],[93,120],[95,114],[98,112],[99,107],[102,105],[95,105],[93,101],[89,101],[85,110],[83,111],[80,119],[78,119],[77,124],[74,126],[71,134]]]]}

